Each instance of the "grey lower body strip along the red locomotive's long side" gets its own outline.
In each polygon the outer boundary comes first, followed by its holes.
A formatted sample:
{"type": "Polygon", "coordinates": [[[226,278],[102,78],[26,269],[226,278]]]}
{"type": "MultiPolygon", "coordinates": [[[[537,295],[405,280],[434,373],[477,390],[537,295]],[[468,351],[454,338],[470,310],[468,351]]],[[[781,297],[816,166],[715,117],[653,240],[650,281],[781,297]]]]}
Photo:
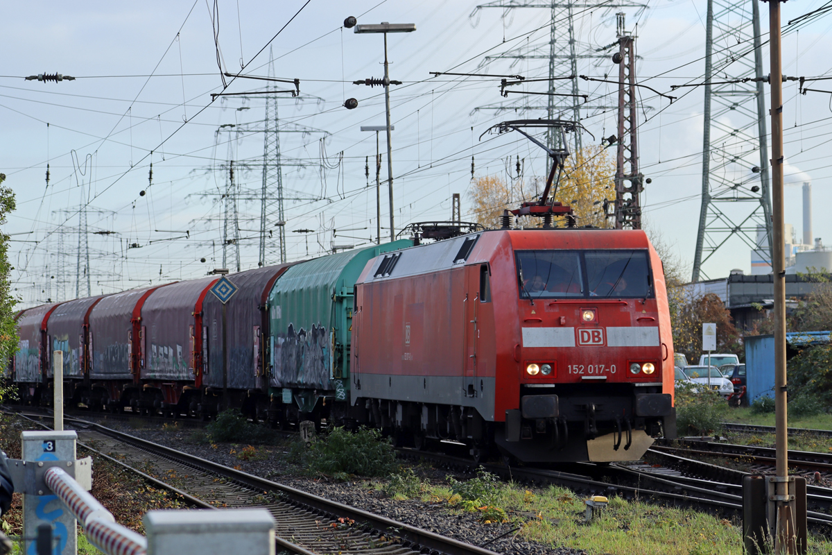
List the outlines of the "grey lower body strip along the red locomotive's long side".
{"type": "Polygon", "coordinates": [[[496,379],[478,376],[403,376],[354,374],[352,402],[358,399],[390,399],[410,403],[474,407],[483,419],[494,420],[496,379]],[[360,388],[356,385],[360,384],[360,388]],[[470,387],[469,387],[470,386],[470,387]]]}

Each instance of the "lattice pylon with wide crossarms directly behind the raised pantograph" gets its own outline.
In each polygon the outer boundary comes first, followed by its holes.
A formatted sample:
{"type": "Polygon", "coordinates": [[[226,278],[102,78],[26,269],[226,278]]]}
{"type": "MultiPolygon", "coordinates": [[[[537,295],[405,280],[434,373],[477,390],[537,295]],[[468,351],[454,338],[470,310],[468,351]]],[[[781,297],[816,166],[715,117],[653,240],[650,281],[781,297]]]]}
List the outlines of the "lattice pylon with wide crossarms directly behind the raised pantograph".
{"type": "MultiPolygon", "coordinates": [[[[582,98],[578,97],[554,96],[556,85],[558,86],[557,92],[578,95],[580,93],[580,77],[578,77],[577,69],[578,60],[609,59],[607,52],[600,52],[597,48],[593,48],[591,45],[581,43],[577,40],[574,24],[576,15],[580,15],[582,12],[598,10],[612,12],[613,9],[621,7],[637,7],[641,10],[646,7],[645,3],[626,1],[604,2],[603,0],[597,0],[596,2],[587,2],[586,0],[582,2],[570,2],[569,0],[560,0],[558,2],[497,0],[496,2],[479,5],[474,9],[474,12],[484,7],[500,7],[503,10],[519,7],[537,7],[549,10],[549,17],[551,17],[552,23],[549,29],[549,41],[547,44],[537,45],[528,51],[525,47],[517,47],[496,57],[485,57],[483,60],[483,65],[499,59],[513,59],[513,63],[526,59],[548,60],[548,96],[545,104],[518,100],[478,107],[475,108],[475,111],[492,110],[499,113],[509,110],[545,110],[547,119],[550,120],[566,116],[567,119],[572,119],[572,121],[581,121],[582,111],[612,110],[616,108],[616,106],[598,106],[592,103],[584,103],[582,98]],[[564,79],[563,77],[566,78],[564,79]]],[[[557,140],[557,133],[553,133],[552,131],[547,133],[547,146],[550,148],[556,147],[557,145],[555,143],[557,140]]],[[[572,146],[575,151],[580,150],[582,146],[581,133],[576,132],[572,140],[574,141],[572,142],[572,146]]]]}

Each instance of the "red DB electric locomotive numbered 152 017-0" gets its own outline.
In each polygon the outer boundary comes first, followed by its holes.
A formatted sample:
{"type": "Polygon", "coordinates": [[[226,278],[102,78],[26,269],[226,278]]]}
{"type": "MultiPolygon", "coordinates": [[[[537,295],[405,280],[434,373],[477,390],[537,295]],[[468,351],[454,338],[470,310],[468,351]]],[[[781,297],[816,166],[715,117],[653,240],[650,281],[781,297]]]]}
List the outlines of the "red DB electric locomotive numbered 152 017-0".
{"type": "Polygon", "coordinates": [[[371,262],[352,401],[524,462],[640,458],[675,433],[661,260],[640,230],[491,230],[371,262]]]}

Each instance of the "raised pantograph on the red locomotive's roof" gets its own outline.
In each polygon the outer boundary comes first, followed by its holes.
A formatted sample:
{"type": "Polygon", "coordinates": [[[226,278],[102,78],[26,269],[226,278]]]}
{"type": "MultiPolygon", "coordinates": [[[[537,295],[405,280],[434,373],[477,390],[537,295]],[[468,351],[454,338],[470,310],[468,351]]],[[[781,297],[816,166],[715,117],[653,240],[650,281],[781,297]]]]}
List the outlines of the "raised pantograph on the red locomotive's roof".
{"type": "MultiPolygon", "coordinates": [[[[513,120],[513,121],[503,121],[498,123],[495,126],[489,127],[487,131],[483,133],[488,133],[489,131],[497,131],[498,133],[505,133],[507,131],[518,131],[518,133],[525,136],[529,141],[532,141],[537,146],[540,146],[544,151],[547,152],[550,158],[552,158],[552,169],[549,171],[549,176],[546,179],[546,186],[543,188],[542,195],[540,199],[533,202],[523,202],[518,209],[511,210],[514,216],[535,216],[535,217],[542,217],[543,218],[543,227],[549,229],[552,227],[552,218],[554,216],[567,216],[567,225],[569,227],[575,226],[575,217],[574,212],[572,211],[572,206],[563,205],[561,202],[555,202],[555,196],[557,195],[557,184],[560,181],[561,174],[563,171],[563,164],[566,162],[567,158],[569,157],[569,148],[567,146],[566,141],[566,133],[567,131],[587,131],[584,126],[580,123],[575,121],[565,121],[565,120],[513,120]],[[526,131],[523,131],[523,128],[527,129],[551,129],[554,132],[560,134],[560,141],[559,144],[561,146],[557,148],[549,148],[548,146],[544,145],[541,141],[538,141],[536,138],[528,134],[526,131]],[[554,190],[552,190],[552,185],[554,185],[554,190]],[[549,191],[552,191],[552,199],[549,199],[549,191]]],[[[589,131],[587,131],[589,132],[589,131]]],[[[483,138],[483,135],[480,138],[483,138]]],[[[592,135],[592,133],[590,133],[592,135]]],[[[595,138],[594,136],[592,137],[595,138]]]]}

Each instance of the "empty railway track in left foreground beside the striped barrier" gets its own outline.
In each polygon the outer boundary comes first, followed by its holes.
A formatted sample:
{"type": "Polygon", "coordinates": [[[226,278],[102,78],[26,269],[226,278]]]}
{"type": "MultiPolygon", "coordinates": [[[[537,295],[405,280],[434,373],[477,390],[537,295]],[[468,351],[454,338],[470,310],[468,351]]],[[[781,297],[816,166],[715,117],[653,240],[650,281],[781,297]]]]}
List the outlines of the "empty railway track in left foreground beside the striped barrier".
{"type": "Polygon", "coordinates": [[[180,494],[193,506],[268,509],[275,517],[279,550],[303,555],[494,555],[485,548],[335,503],[100,424],[71,418],[66,422],[75,426],[79,444],[84,448],[180,494]]]}

